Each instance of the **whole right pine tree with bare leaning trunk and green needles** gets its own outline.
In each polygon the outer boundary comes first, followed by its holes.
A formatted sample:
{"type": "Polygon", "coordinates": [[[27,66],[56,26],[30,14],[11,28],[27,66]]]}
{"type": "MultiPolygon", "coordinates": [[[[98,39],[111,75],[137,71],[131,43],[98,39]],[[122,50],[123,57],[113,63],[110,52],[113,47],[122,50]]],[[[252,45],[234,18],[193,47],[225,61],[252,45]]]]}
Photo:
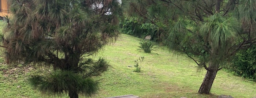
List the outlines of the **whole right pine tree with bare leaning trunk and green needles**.
{"type": "MultiPolygon", "coordinates": [[[[256,43],[255,0],[133,0],[127,16],[159,28],[170,49],[207,70],[199,93],[209,94],[217,72],[240,49],[256,43]]],[[[159,36],[162,37],[162,36],[159,36]]]]}

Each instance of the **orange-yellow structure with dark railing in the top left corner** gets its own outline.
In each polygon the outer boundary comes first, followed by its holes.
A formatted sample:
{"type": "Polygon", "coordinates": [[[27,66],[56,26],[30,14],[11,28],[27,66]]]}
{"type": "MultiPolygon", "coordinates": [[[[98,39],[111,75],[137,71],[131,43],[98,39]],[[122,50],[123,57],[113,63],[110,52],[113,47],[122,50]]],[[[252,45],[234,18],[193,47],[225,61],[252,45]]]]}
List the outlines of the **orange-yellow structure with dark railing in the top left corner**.
{"type": "Polygon", "coordinates": [[[8,0],[0,0],[0,17],[5,17],[5,15],[8,15],[9,13],[8,0]]]}

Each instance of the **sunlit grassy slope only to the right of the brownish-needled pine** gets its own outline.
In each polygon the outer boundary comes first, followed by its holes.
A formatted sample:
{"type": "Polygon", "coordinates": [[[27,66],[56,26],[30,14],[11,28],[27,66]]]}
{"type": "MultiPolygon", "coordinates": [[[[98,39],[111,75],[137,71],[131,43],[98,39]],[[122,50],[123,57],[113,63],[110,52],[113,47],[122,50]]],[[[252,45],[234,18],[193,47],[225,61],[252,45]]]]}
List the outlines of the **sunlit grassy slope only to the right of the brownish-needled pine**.
{"type": "MultiPolygon", "coordinates": [[[[122,34],[119,40],[98,54],[110,61],[112,68],[100,79],[100,94],[109,97],[134,94],[144,97],[216,97],[197,94],[204,79],[205,70],[197,72],[195,63],[174,51],[158,49],[152,53],[136,50],[140,39],[122,34]],[[134,60],[144,56],[141,73],[133,72],[134,60]]],[[[256,96],[255,82],[231,73],[219,71],[211,93],[232,95],[237,98],[256,96]]]]}

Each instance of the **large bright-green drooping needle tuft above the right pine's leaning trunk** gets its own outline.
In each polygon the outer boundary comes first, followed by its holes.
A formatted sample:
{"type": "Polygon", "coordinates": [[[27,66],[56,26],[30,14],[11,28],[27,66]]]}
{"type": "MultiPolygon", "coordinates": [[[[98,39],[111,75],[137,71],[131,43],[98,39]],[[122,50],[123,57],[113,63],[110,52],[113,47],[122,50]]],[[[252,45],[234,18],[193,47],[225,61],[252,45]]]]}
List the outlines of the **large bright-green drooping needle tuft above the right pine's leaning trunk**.
{"type": "Polygon", "coordinates": [[[218,50],[219,56],[215,59],[223,62],[227,58],[231,45],[238,41],[240,23],[234,17],[225,18],[220,14],[214,14],[209,16],[207,22],[202,24],[199,31],[201,37],[204,38],[204,42],[209,43],[212,50],[218,50]]]}

